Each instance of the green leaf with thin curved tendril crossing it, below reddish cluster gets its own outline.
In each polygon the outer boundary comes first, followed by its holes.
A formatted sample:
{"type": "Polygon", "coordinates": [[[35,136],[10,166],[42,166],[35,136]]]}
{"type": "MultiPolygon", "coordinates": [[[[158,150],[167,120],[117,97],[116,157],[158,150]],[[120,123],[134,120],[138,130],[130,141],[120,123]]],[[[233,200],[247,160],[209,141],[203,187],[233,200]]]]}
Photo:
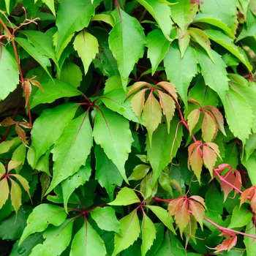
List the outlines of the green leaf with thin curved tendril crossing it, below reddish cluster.
{"type": "Polygon", "coordinates": [[[146,140],[147,159],[153,169],[153,186],[156,184],[157,178],[165,166],[176,156],[176,152],[181,144],[183,132],[182,127],[178,126],[178,121],[178,118],[173,118],[170,123],[169,133],[166,124],[159,124],[159,127],[152,136],[151,145],[148,138],[146,140]]]}

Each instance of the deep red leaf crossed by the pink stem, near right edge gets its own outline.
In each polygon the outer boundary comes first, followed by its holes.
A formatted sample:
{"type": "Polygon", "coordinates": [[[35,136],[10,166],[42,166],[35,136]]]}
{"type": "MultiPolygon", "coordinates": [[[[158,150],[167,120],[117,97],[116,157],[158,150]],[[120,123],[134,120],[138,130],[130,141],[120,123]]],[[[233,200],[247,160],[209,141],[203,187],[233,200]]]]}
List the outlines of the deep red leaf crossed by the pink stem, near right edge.
{"type": "MultiPolygon", "coordinates": [[[[228,181],[230,184],[233,184],[238,189],[241,189],[241,174],[238,172],[238,170],[232,170],[232,169],[229,170],[225,174],[225,177],[223,178],[225,178],[226,181],[228,181]]],[[[233,190],[233,188],[223,181],[221,182],[221,187],[224,192],[224,202],[225,202],[225,200],[227,199],[227,195],[233,190]]],[[[236,196],[237,193],[238,192],[235,190],[234,196],[236,196]]]]}

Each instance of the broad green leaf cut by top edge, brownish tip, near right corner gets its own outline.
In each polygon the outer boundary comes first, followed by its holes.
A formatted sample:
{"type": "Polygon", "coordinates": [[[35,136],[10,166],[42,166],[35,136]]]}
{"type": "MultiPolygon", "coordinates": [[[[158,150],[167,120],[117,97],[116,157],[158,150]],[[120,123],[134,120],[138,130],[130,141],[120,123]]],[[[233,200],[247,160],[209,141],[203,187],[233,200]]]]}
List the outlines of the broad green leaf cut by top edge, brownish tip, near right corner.
{"type": "Polygon", "coordinates": [[[233,0],[206,0],[203,1],[203,4],[200,4],[200,11],[204,15],[222,20],[222,23],[225,23],[233,34],[236,34],[238,26],[237,7],[238,3],[233,0]]]}

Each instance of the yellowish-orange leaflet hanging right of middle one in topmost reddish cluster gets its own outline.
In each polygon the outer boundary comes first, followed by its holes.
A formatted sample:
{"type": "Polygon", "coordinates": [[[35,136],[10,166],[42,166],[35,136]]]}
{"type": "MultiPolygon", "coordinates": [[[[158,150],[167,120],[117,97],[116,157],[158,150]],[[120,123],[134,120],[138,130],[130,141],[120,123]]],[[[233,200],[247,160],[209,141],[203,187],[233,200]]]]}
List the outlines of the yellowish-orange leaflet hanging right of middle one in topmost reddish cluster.
{"type": "Polygon", "coordinates": [[[175,102],[173,98],[170,97],[168,94],[162,93],[162,91],[157,90],[159,94],[159,101],[162,107],[162,112],[166,116],[167,121],[167,131],[170,132],[170,121],[173,119],[174,110],[175,110],[175,102]]]}

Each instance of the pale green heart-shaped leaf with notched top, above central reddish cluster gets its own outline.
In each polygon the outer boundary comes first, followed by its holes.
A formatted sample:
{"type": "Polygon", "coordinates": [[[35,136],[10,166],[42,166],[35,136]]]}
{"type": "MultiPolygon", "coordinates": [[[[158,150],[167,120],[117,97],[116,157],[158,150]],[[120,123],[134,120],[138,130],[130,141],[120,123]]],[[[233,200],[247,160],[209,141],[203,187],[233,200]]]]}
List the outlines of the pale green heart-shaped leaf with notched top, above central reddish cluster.
{"type": "Polygon", "coordinates": [[[164,65],[168,80],[176,86],[176,91],[187,108],[187,89],[197,73],[195,50],[188,47],[183,58],[176,43],[172,43],[165,56],[164,65]]]}

